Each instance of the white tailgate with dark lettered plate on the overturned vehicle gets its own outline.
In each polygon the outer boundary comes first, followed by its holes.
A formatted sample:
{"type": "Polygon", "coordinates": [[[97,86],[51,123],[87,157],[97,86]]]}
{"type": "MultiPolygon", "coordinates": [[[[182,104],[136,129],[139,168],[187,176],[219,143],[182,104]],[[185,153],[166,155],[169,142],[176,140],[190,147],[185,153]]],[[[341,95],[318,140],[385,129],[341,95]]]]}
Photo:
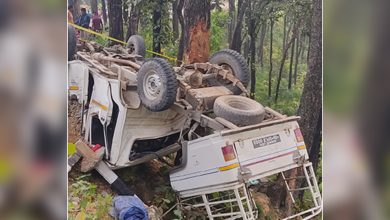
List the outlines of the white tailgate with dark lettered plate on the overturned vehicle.
{"type": "Polygon", "coordinates": [[[298,123],[291,121],[229,136],[234,142],[245,180],[292,169],[308,159],[298,123]]]}

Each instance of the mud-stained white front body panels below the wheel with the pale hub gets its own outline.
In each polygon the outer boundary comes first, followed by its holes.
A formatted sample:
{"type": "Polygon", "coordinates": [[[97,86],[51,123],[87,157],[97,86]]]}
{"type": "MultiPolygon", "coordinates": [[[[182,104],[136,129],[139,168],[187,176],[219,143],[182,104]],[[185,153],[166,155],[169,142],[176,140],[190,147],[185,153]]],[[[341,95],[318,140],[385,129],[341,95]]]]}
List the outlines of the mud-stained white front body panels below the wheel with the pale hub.
{"type": "MultiPolygon", "coordinates": [[[[118,112],[116,124],[109,147],[108,165],[112,169],[126,167],[133,144],[137,140],[156,139],[170,134],[179,133],[187,116],[172,109],[162,112],[152,112],[139,104],[138,95],[130,94],[136,91],[124,91],[118,79],[107,78],[101,74],[91,72],[94,85],[85,123],[85,139],[91,141],[92,117],[98,116],[103,129],[111,123],[113,107],[118,112]],[[123,96],[137,97],[132,99],[136,104],[125,103],[123,96]]],[[[109,144],[109,143],[108,143],[109,144]]]]}

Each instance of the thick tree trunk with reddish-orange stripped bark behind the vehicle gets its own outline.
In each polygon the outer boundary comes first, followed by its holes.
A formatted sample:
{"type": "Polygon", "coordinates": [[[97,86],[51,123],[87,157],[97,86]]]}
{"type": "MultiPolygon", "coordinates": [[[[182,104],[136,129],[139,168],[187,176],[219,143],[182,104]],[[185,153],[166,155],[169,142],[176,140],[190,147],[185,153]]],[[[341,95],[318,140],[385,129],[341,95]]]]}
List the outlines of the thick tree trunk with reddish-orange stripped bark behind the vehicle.
{"type": "Polygon", "coordinates": [[[185,0],[184,24],[185,62],[207,62],[210,53],[210,0],[185,0]]]}

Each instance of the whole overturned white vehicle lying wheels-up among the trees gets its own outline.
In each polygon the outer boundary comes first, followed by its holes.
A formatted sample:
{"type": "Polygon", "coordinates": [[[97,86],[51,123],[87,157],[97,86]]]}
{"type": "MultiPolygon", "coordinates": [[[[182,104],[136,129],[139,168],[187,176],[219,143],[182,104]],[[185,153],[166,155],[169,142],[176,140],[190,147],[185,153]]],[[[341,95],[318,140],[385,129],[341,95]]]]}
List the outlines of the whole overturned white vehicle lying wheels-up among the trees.
{"type": "Polygon", "coordinates": [[[313,207],[287,219],[322,211],[299,117],[245,97],[249,71],[240,54],[222,50],[207,63],[172,68],[132,53],[144,49],[139,36],[129,44],[132,50],[87,45],[69,63],[69,94],[85,108],[84,139],[104,146],[96,169],[111,185],[118,184],[112,170],[177,152],[170,180],[184,210],[256,219],[250,183],[301,168],[307,187],[285,184],[293,202],[295,191],[308,190],[313,207]]]}

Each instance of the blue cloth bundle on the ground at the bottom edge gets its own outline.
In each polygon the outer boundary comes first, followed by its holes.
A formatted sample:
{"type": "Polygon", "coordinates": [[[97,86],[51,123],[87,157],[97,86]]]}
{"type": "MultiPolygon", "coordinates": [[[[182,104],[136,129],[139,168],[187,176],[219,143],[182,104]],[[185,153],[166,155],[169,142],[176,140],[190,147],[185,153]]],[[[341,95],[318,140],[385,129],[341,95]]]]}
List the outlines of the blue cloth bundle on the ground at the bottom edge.
{"type": "Polygon", "coordinates": [[[114,209],[119,220],[148,220],[148,210],[136,196],[115,196],[114,209]]]}

